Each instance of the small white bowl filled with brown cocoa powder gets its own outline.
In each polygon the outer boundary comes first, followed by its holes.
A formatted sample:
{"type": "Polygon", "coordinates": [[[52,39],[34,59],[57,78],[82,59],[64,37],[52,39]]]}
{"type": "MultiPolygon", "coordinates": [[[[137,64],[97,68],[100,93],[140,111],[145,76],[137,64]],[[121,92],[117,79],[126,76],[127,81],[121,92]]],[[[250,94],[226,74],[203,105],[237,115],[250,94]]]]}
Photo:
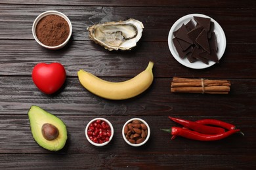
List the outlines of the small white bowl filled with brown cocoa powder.
{"type": "Polygon", "coordinates": [[[65,14],[48,10],[35,18],[32,33],[38,44],[57,50],[64,47],[70,40],[72,24],[65,14]]]}

